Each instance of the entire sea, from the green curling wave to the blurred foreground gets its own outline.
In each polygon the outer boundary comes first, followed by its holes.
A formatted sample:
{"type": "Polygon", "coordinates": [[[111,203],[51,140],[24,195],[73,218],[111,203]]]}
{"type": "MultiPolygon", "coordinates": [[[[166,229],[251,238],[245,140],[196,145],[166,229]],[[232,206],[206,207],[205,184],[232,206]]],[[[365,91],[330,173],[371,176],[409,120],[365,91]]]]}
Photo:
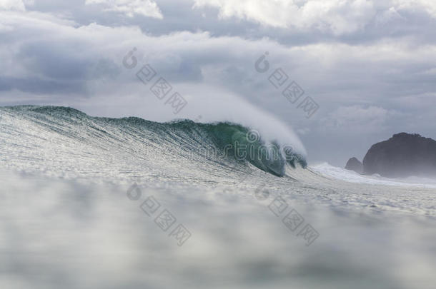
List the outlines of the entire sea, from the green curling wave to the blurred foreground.
{"type": "Polygon", "coordinates": [[[0,108],[1,287],[435,288],[436,183],[308,164],[274,124],[0,108]]]}

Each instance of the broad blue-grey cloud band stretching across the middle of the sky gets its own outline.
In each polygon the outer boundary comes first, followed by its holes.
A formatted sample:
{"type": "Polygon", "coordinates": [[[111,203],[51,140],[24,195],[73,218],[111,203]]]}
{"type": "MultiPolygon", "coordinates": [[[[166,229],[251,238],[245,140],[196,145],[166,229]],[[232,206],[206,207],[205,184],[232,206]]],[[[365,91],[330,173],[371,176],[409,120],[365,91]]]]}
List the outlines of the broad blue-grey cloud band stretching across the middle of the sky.
{"type": "MultiPolygon", "coordinates": [[[[279,91],[272,90],[266,74],[254,71],[254,62],[264,51],[269,51],[267,60],[271,69],[281,67],[307,94],[325,103],[320,103],[319,113],[336,109],[337,103],[342,106],[371,104],[425,93],[432,90],[433,81],[423,75],[433,71],[436,64],[434,45],[410,46],[407,38],[371,44],[328,42],[289,48],[268,39],[247,40],[190,32],[151,36],[132,26],[77,26],[49,14],[4,13],[0,30],[12,29],[14,33],[0,45],[0,60],[4,64],[0,76],[26,78],[36,73],[64,85],[64,78],[60,76],[71,78],[75,73],[75,79],[86,86],[94,83],[91,76],[97,73],[89,74],[89,69],[112,67],[107,61],[99,63],[99,59],[109,59],[119,65],[119,59],[132,47],[137,47],[138,59],[151,58],[164,76],[190,86],[208,83],[237,91],[278,113],[292,105],[279,91]],[[411,81],[415,85],[411,86],[411,81]],[[265,98],[265,95],[273,97],[265,98]]],[[[122,87],[119,85],[122,81],[120,78],[111,82],[122,87]]],[[[19,87],[24,86],[23,83],[19,87]]],[[[69,88],[74,83],[66,84],[69,88]]],[[[29,86],[35,87],[33,82],[29,86]]],[[[122,95],[122,91],[119,94],[122,95]]],[[[286,115],[287,112],[280,113],[286,115]]],[[[292,115],[302,116],[297,111],[292,115]]]]}

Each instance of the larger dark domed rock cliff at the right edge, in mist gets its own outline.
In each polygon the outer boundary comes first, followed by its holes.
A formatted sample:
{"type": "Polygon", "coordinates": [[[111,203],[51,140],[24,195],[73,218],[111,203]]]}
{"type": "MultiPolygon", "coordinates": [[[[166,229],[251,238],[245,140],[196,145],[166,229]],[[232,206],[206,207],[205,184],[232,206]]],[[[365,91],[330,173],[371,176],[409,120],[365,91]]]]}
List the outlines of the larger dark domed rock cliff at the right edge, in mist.
{"type": "Polygon", "coordinates": [[[370,148],[363,159],[363,173],[436,177],[436,141],[419,134],[395,134],[370,148]]]}

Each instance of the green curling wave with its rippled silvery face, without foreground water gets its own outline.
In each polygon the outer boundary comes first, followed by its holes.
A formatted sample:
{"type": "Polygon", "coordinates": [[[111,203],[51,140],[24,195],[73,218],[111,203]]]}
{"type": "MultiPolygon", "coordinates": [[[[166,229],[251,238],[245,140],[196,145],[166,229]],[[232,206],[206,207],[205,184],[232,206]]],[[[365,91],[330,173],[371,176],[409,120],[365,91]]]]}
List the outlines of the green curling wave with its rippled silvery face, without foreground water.
{"type": "Polygon", "coordinates": [[[0,112],[2,155],[6,166],[19,169],[115,176],[180,167],[219,174],[220,168],[228,173],[229,167],[254,166],[284,176],[287,167],[307,166],[292,144],[280,145],[235,123],[97,118],[59,106],[12,106],[0,112]],[[127,168],[138,161],[139,168],[127,168]]]}

